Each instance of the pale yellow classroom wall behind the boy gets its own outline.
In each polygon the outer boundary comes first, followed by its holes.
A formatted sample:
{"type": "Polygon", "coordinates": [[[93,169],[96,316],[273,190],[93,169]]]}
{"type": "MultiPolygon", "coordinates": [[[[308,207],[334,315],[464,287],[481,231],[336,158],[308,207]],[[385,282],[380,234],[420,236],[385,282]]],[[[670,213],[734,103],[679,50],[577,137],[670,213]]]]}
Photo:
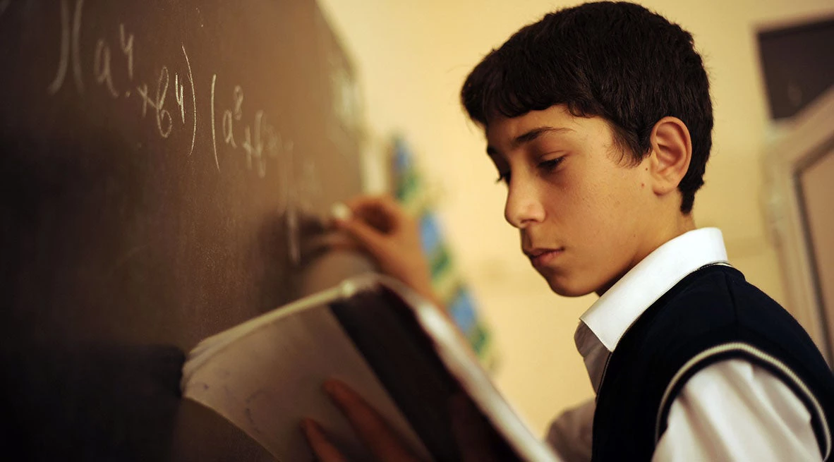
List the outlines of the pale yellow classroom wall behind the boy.
{"type": "MultiPolygon", "coordinates": [[[[319,0],[343,39],[364,91],[371,133],[403,133],[440,191],[440,215],[457,264],[492,325],[495,379],[532,427],[590,398],[573,344],[594,296],[565,299],[520,254],[502,217],[483,135],[458,102],[466,74],[515,30],[573,2],[528,0],[319,0]]],[[[834,13],[831,0],[651,0],[696,39],[712,84],[716,128],[696,223],[725,234],[731,263],[784,303],[776,251],[762,213],[761,152],[771,127],[756,51],[758,25],[834,13]]]]}

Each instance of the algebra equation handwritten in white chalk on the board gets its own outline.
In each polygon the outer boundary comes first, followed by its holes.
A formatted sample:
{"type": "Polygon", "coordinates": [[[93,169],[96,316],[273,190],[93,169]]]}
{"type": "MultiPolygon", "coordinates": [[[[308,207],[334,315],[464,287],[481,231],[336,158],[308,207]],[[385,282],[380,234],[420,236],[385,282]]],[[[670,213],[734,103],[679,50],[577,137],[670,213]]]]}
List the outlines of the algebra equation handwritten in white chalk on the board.
{"type": "MultiPolygon", "coordinates": [[[[207,95],[198,94],[198,84],[194,82],[188,50],[184,44],[180,44],[182,58],[180,63],[175,63],[176,67],[163,65],[154,69],[150,78],[143,78],[138,75],[134,65],[136,39],[124,23],[119,23],[118,31],[113,30],[113,37],[101,37],[96,41],[92,63],[93,78],[88,82],[84,77],[85,71],[89,68],[85,68],[82,62],[80,40],[84,0],[74,0],[73,9],[70,11],[71,1],[60,1],[60,53],[54,78],[47,88],[48,94],[57,94],[68,85],[67,81],[70,79],[80,94],[93,91],[88,88],[88,85],[92,85],[97,91],[104,91],[114,100],[132,104],[143,120],[153,124],[161,138],[168,138],[174,131],[186,131],[191,138],[188,150],[188,156],[191,156],[198,138],[198,130],[206,127],[203,114],[198,113],[197,102],[202,101],[207,95]]],[[[218,76],[214,73],[208,93],[208,126],[211,129],[214,165],[218,171],[219,153],[229,151],[243,153],[246,167],[254,170],[260,178],[266,176],[270,158],[288,158],[291,163],[293,141],[282,138],[281,133],[268,122],[269,118],[263,109],[257,109],[250,113],[250,117],[246,117],[244,89],[240,85],[231,88],[231,107],[217,107],[217,80],[218,76]]],[[[207,82],[206,86],[208,84],[207,82]]]]}

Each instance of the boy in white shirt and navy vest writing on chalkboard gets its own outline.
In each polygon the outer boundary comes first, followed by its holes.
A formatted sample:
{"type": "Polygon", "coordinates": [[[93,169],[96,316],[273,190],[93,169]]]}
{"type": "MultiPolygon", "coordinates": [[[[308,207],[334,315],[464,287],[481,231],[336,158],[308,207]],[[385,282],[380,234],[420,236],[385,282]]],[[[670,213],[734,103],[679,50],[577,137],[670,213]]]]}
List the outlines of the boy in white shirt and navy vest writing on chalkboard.
{"type": "MultiPolygon", "coordinates": [[[[721,232],[695,227],[712,108],[689,33],[630,3],[568,8],[488,54],[461,98],[530,263],[556,294],[600,295],[575,334],[595,403],[550,429],[565,459],[831,457],[831,369],[726,263],[721,232]]],[[[431,296],[413,223],[387,198],[351,205],[340,226],[431,296]]],[[[380,459],[409,457],[359,397],[328,388],[380,459]]],[[[314,423],[305,432],[339,459],[314,423]]]]}

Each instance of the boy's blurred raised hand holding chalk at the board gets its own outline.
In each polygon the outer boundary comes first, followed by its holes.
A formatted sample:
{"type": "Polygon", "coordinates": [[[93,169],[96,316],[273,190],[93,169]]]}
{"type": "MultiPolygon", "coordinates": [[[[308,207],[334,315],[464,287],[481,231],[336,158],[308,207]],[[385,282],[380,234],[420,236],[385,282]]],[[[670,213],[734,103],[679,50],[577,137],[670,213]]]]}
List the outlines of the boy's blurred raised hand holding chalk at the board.
{"type": "Polygon", "coordinates": [[[334,218],[336,228],[351,235],[384,274],[399,279],[435,304],[429,263],[420,244],[420,229],[389,195],[359,196],[345,203],[349,218],[334,218]]]}

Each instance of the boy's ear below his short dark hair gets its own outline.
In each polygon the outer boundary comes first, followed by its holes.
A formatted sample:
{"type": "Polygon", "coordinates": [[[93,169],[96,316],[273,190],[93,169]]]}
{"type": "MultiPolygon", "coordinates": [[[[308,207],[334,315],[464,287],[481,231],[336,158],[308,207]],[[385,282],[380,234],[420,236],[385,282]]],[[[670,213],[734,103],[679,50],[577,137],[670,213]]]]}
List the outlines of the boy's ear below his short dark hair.
{"type": "Polygon", "coordinates": [[[665,117],[651,130],[650,173],[654,193],[676,191],[692,158],[689,128],[680,118],[665,117]]]}

